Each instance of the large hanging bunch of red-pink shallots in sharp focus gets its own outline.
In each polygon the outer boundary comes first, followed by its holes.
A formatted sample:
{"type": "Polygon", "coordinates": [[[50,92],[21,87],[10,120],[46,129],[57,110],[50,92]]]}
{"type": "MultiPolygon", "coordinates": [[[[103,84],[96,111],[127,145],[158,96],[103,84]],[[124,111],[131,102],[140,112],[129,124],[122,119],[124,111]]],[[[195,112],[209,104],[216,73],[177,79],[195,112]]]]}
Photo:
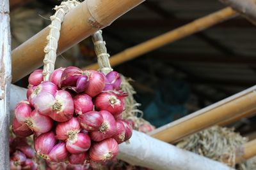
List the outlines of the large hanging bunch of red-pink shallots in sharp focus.
{"type": "Polygon", "coordinates": [[[67,67],[43,79],[42,69],[29,76],[28,100],[15,108],[13,132],[34,134],[36,153],[50,162],[114,159],[118,144],[132,135],[122,119],[127,94],[120,91],[120,75],[67,67]]]}

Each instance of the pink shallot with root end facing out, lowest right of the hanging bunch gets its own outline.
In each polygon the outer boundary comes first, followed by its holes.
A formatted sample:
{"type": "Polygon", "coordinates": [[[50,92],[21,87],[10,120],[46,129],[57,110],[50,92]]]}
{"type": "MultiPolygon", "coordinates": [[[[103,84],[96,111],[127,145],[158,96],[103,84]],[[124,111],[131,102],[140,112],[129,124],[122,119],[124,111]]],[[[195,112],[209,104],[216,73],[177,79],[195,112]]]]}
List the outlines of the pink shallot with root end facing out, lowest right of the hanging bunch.
{"type": "Polygon", "coordinates": [[[93,143],[90,148],[90,159],[95,162],[106,162],[114,159],[118,153],[118,143],[113,138],[93,143]]]}

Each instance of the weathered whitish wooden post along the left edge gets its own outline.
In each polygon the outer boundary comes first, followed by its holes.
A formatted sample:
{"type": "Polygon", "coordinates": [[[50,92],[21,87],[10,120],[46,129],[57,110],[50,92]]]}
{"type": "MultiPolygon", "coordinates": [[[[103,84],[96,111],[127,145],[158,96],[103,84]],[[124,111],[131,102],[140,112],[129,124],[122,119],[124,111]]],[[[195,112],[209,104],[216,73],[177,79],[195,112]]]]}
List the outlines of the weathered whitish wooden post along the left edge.
{"type": "Polygon", "coordinates": [[[0,0],[0,5],[0,169],[9,169],[8,136],[12,80],[9,1],[0,0]]]}

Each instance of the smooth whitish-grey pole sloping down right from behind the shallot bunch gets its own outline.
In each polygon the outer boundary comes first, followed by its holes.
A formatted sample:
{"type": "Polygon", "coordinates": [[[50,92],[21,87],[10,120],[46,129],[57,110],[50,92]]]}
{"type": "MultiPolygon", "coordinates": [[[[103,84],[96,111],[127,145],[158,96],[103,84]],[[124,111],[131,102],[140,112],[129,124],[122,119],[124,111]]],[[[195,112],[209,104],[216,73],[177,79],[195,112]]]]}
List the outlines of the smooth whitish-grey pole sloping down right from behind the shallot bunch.
{"type": "Polygon", "coordinates": [[[182,150],[142,132],[133,131],[129,144],[119,145],[118,159],[157,170],[231,170],[215,160],[182,150]]]}

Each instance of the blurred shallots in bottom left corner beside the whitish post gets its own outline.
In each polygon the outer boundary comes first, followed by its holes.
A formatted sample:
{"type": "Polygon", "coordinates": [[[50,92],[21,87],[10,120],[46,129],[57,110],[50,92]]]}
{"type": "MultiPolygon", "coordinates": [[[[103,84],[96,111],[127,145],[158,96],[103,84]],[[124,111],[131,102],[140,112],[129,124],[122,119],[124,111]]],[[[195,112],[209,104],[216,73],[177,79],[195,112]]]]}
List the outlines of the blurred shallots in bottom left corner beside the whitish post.
{"type": "Polygon", "coordinates": [[[26,138],[10,138],[10,169],[36,170],[35,150],[28,145],[26,138]]]}

